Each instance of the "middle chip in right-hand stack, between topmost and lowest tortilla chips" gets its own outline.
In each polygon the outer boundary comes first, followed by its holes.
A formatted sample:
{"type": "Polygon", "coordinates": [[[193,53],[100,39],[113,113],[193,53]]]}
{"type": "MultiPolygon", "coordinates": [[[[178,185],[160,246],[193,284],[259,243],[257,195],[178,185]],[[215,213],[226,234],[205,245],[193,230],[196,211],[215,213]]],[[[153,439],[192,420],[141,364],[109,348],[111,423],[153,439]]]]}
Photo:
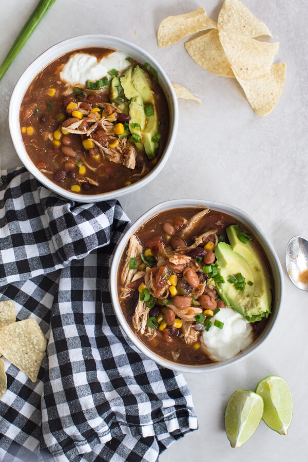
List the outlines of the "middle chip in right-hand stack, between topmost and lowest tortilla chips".
{"type": "Polygon", "coordinates": [[[256,79],[271,71],[279,42],[265,43],[239,34],[219,32],[226,57],[240,79],[256,79]]]}

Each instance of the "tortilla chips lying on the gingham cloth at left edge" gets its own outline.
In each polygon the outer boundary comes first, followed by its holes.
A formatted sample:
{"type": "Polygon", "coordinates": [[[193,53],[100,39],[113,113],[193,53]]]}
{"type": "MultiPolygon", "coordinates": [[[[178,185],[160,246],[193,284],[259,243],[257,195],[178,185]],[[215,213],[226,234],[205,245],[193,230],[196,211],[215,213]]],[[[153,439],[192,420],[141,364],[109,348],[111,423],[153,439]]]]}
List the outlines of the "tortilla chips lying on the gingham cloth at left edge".
{"type": "MultiPolygon", "coordinates": [[[[32,382],[37,379],[47,340],[35,319],[16,322],[13,301],[0,302],[0,355],[3,355],[32,382]]],[[[0,399],[7,388],[5,364],[0,359],[0,399]]]]}

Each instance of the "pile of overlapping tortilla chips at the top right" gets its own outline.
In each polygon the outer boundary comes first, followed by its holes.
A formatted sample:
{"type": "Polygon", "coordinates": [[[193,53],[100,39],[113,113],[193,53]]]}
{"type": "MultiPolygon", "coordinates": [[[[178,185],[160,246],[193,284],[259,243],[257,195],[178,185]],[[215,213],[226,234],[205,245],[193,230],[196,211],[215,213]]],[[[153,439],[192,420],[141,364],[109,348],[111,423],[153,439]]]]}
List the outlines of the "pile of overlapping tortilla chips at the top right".
{"type": "Polygon", "coordinates": [[[279,42],[260,42],[256,37],[272,37],[239,0],[225,0],[218,22],[204,8],[166,17],[158,29],[158,45],[163,48],[181,38],[201,32],[185,43],[189,55],[204,69],[236,78],[256,114],[266,115],[276,106],[285,80],[285,63],[273,64],[279,42]]]}

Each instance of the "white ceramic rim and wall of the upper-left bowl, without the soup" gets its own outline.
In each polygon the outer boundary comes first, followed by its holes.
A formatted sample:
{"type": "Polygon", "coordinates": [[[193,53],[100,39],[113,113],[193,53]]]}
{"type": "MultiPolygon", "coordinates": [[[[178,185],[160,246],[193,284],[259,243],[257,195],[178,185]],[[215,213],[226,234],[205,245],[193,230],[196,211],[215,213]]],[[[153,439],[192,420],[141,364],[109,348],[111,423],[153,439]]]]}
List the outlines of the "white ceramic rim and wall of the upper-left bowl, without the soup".
{"type": "Polygon", "coordinates": [[[40,181],[44,186],[48,187],[52,191],[59,194],[59,196],[63,196],[67,199],[79,202],[99,202],[102,200],[122,196],[123,194],[127,194],[128,192],[132,192],[142,186],[145,186],[159,174],[159,172],[166,164],[172,147],[175,143],[178,129],[178,101],[175,91],[167,75],[165,74],[161,66],[158,64],[158,62],[155,61],[155,59],[153,59],[152,56],[150,56],[146,51],[142,50],[136,45],[133,45],[132,43],[126,42],[126,40],[122,40],[121,38],[117,37],[111,37],[109,35],[80,35],[78,37],[73,37],[69,38],[68,40],[64,40],[63,42],[57,43],[53,47],[48,48],[48,50],[44,51],[44,53],[38,56],[36,60],[33,61],[30,64],[30,66],[27,67],[25,72],[22,74],[21,78],[16,83],[11,96],[9,108],[9,126],[11,137],[18,157],[25,165],[25,167],[38,181],[40,181]],[[69,51],[85,47],[114,48],[115,50],[124,51],[125,53],[134,57],[137,61],[141,63],[149,63],[158,72],[159,83],[166,95],[169,107],[168,139],[164,152],[157,166],[153,168],[153,170],[146,177],[142,178],[136,183],[133,183],[129,186],[125,186],[121,189],[117,189],[114,191],[93,195],[81,195],[71,191],[67,191],[66,189],[50,181],[42,174],[40,170],[38,170],[38,168],[35,167],[25,149],[19,120],[20,107],[24,98],[24,94],[29,86],[29,83],[32,82],[32,80],[38,74],[38,72],[44,69],[57,57],[62,56],[63,54],[69,51]]]}

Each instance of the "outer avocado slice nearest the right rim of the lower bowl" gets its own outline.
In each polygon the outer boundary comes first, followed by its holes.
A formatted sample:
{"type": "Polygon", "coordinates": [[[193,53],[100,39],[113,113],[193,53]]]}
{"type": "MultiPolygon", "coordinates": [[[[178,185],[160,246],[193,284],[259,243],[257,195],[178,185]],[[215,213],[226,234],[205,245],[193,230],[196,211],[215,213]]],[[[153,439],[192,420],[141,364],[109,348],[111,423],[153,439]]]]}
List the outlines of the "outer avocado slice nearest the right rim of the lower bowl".
{"type": "Polygon", "coordinates": [[[238,225],[228,226],[226,229],[228,239],[235,252],[242,255],[252,269],[255,278],[254,295],[260,298],[260,305],[271,313],[272,294],[271,285],[266,274],[264,263],[262,262],[253,241],[243,243],[238,238],[242,229],[238,225]]]}

